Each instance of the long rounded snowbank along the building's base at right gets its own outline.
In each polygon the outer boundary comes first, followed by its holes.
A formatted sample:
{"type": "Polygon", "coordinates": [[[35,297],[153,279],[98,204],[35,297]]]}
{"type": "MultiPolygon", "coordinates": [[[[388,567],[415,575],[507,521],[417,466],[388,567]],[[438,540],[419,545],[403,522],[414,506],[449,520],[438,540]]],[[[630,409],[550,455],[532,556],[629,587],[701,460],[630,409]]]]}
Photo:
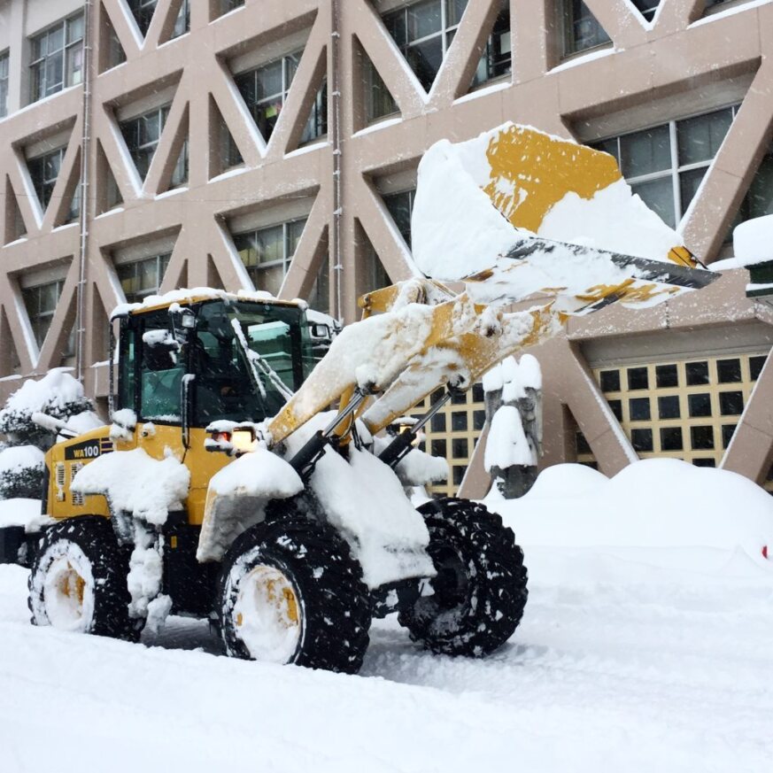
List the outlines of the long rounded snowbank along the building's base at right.
{"type": "Polygon", "coordinates": [[[487,504],[523,545],[773,546],[773,499],[745,477],[684,461],[635,462],[609,479],[582,465],[546,468],[522,499],[487,504]]]}

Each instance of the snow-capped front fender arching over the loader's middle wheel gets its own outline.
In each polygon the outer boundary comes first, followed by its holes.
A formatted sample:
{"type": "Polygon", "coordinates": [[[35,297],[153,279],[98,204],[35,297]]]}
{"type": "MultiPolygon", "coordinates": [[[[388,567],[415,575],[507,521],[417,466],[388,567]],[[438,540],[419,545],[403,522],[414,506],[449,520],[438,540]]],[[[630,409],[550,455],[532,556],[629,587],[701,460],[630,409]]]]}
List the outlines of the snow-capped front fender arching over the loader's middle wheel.
{"type": "Polygon", "coordinates": [[[236,537],[263,520],[269,499],[303,488],[298,473],[265,446],[230,462],[210,480],[197,560],[222,559],[236,537]]]}

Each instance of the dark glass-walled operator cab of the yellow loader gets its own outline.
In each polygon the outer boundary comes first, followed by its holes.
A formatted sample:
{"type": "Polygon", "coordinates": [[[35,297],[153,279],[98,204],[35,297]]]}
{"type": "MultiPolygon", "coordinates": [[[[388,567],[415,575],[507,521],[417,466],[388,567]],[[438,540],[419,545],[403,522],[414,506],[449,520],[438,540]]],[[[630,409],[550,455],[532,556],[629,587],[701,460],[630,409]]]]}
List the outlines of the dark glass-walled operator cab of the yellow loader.
{"type": "Polygon", "coordinates": [[[273,416],[318,359],[302,307],[241,298],[128,313],[119,352],[115,407],[184,431],[273,416]]]}

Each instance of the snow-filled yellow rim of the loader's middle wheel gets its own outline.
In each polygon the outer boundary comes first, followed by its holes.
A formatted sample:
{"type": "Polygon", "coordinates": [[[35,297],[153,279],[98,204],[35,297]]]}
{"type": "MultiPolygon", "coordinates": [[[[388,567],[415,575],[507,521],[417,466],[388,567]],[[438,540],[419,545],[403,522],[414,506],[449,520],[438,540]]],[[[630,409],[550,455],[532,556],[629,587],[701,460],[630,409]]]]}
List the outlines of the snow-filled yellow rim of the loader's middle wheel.
{"type": "Polygon", "coordinates": [[[288,576],[259,565],[243,576],[233,610],[236,636],[256,661],[287,663],[298,650],[301,605],[288,576]]]}

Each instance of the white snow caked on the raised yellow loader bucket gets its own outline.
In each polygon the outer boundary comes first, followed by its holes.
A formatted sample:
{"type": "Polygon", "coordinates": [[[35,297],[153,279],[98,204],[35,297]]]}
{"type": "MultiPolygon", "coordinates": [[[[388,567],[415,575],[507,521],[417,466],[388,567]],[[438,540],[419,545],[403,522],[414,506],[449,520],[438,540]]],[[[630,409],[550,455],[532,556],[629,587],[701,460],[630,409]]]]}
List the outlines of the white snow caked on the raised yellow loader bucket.
{"type": "MultiPolygon", "coordinates": [[[[514,127],[506,123],[463,143],[440,140],[421,159],[411,228],[414,260],[428,276],[454,281],[483,271],[518,241],[519,229],[483,191],[493,182],[507,202],[528,196],[514,183],[508,182],[512,189],[499,190],[504,183],[495,179],[488,160],[497,138],[514,127]]],[[[530,232],[520,229],[524,233],[530,232]]],[[[663,260],[681,243],[622,179],[590,199],[568,193],[545,215],[537,236],[663,260]]]]}

